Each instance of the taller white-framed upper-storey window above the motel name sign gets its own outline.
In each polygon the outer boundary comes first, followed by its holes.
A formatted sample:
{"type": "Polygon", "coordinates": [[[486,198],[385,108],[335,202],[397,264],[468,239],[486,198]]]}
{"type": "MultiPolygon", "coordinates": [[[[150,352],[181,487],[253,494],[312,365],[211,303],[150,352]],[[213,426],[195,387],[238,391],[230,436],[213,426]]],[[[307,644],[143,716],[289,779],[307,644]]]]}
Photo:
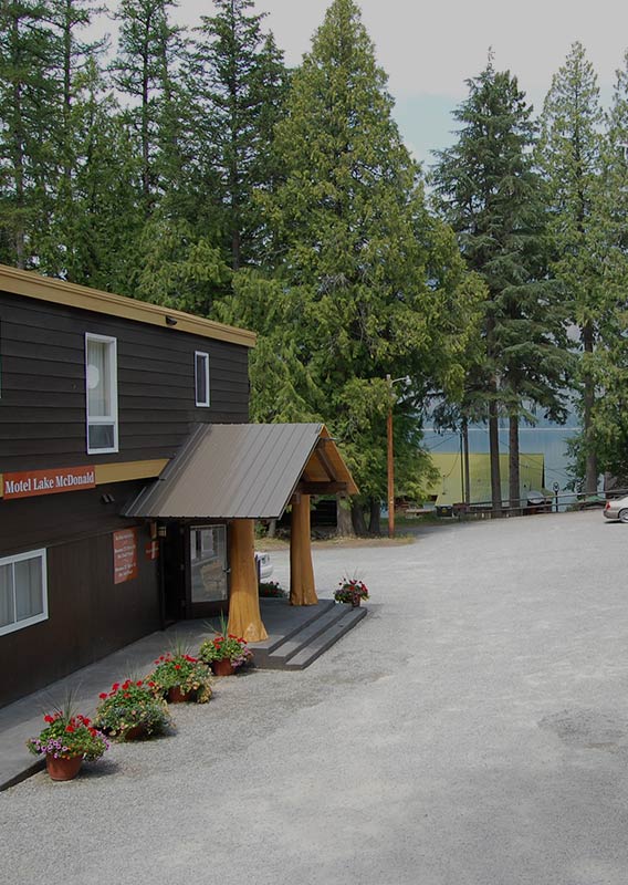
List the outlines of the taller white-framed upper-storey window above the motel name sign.
{"type": "Polygon", "coordinates": [[[118,450],[116,340],[85,335],[87,454],[118,450]]]}

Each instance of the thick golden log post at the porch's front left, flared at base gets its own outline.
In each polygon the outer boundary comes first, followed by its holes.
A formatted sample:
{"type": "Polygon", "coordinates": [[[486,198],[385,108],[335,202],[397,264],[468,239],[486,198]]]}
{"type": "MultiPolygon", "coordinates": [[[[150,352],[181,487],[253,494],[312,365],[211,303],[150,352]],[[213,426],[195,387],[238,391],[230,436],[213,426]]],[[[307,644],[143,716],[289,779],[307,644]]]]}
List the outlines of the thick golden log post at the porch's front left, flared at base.
{"type": "Polygon", "coordinates": [[[229,633],[248,643],[261,643],[268,633],[260,615],[258,570],[255,569],[255,535],[252,519],[236,519],[229,525],[229,565],[231,594],[229,633]]]}

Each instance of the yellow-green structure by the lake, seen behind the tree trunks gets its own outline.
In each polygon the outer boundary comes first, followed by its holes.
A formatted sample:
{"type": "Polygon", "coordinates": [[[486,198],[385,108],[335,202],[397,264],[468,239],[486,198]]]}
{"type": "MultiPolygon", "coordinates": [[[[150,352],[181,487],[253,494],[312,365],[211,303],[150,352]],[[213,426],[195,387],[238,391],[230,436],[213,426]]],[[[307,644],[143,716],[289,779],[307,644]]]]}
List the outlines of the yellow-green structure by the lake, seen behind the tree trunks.
{"type": "MultiPolygon", "coordinates": [[[[430,458],[440,473],[431,485],[428,494],[437,507],[451,507],[464,500],[462,481],[462,457],[460,452],[431,451],[430,458]],[[435,498],[436,496],[436,498],[435,498]]],[[[522,452],[519,458],[520,497],[525,506],[530,492],[551,494],[545,489],[545,466],[543,455],[522,452]]],[[[500,476],[502,500],[509,499],[509,456],[500,455],[500,476]]],[[[471,500],[467,503],[480,504],[491,501],[491,461],[488,454],[469,455],[469,477],[471,500]]]]}

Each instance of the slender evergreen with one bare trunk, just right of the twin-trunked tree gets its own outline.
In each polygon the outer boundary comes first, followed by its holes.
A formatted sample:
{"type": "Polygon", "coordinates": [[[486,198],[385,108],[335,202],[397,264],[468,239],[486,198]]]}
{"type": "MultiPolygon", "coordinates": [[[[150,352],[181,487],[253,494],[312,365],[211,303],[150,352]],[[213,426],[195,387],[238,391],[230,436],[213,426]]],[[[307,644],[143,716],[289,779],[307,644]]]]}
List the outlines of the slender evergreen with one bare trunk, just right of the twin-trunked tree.
{"type": "Polygon", "coordinates": [[[603,115],[597,77],[580,43],[573,44],[565,64],[554,75],[541,122],[540,162],[547,180],[554,244],[552,270],[561,282],[568,317],[579,331],[585,491],[595,493],[598,465],[593,428],[594,354],[605,291],[594,207],[599,184],[603,115]]]}

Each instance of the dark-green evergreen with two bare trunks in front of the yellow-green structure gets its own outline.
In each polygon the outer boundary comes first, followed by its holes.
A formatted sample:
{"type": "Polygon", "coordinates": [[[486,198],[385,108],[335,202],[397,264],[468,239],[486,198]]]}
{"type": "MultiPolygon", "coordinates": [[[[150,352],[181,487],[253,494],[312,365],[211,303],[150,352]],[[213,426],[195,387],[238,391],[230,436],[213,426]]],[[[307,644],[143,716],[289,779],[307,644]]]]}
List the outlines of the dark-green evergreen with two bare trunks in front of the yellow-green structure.
{"type": "Polygon", "coordinates": [[[486,404],[493,509],[501,509],[499,417],[510,424],[511,507],[520,506],[519,426],[541,406],[562,417],[564,325],[546,277],[544,194],[532,166],[532,107],[510,72],[492,60],[468,81],[454,117],[462,127],[439,154],[437,202],[453,227],[468,267],[486,285],[484,352],[471,369],[464,410],[486,404]]]}

